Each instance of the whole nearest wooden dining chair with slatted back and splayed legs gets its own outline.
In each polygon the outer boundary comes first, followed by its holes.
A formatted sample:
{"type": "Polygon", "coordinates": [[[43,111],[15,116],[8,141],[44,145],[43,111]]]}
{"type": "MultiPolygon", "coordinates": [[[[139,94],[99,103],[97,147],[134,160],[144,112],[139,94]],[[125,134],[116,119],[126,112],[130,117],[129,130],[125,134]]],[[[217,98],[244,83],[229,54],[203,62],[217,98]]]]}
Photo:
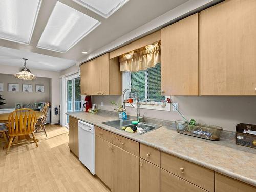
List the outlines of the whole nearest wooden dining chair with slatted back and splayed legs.
{"type": "Polygon", "coordinates": [[[8,154],[10,147],[16,144],[22,144],[24,142],[12,144],[13,138],[17,136],[32,135],[33,141],[38,147],[34,132],[36,125],[36,114],[32,109],[22,108],[17,109],[10,113],[8,116],[8,123],[5,124],[8,128],[8,134],[10,137],[9,144],[6,150],[6,155],[8,154]]]}

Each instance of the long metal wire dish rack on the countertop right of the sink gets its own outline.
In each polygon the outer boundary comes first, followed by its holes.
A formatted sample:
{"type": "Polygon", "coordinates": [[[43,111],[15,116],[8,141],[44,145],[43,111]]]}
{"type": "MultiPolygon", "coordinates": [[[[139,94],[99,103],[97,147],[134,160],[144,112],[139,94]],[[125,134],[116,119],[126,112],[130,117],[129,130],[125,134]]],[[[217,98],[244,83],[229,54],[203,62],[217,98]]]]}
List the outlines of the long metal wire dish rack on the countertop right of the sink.
{"type": "Polygon", "coordinates": [[[196,123],[195,125],[190,125],[189,122],[186,121],[175,121],[175,124],[178,133],[212,141],[219,141],[223,130],[220,126],[199,123],[196,123]]]}

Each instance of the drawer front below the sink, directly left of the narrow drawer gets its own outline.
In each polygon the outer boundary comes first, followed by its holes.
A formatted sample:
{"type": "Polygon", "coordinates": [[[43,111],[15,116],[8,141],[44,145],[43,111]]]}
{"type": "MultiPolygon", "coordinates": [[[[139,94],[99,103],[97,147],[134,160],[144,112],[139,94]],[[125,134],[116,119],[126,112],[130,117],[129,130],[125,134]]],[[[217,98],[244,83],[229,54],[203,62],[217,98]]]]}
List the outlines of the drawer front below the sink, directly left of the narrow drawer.
{"type": "Polygon", "coordinates": [[[112,134],[113,144],[139,157],[139,143],[120,135],[112,134]]]}

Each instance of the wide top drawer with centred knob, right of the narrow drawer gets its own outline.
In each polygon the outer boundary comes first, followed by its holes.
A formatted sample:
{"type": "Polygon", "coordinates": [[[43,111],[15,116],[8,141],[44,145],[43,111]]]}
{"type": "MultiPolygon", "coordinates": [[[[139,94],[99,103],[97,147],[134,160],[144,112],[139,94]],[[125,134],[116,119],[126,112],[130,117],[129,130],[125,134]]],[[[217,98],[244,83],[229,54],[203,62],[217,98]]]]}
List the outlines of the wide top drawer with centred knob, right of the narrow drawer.
{"type": "Polygon", "coordinates": [[[207,191],[214,191],[214,171],[161,152],[161,168],[207,191]]]}

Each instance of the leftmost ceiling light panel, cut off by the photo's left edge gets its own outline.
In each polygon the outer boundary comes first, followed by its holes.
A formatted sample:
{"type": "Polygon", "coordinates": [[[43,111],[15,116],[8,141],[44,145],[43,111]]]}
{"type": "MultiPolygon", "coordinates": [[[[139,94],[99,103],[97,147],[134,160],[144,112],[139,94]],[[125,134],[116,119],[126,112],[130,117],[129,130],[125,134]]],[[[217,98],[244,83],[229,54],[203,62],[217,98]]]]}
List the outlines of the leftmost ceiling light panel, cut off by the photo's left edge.
{"type": "Polygon", "coordinates": [[[29,44],[41,0],[1,0],[0,38],[29,44]]]}

